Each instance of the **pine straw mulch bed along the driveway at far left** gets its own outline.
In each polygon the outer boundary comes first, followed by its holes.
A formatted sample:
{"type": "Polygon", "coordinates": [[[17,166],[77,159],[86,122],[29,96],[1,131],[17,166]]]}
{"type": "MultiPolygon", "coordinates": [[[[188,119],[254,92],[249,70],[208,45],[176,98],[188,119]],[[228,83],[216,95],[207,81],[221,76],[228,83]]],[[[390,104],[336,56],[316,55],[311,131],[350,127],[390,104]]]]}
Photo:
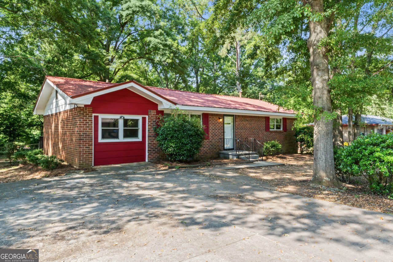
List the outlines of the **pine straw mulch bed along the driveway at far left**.
{"type": "Polygon", "coordinates": [[[75,170],[85,172],[95,171],[94,168],[74,168],[70,165],[62,164],[60,168],[55,170],[43,170],[40,166],[31,164],[19,164],[10,166],[8,163],[0,164],[0,183],[9,183],[28,179],[37,179],[43,177],[58,177],[66,173],[72,173],[75,170]]]}

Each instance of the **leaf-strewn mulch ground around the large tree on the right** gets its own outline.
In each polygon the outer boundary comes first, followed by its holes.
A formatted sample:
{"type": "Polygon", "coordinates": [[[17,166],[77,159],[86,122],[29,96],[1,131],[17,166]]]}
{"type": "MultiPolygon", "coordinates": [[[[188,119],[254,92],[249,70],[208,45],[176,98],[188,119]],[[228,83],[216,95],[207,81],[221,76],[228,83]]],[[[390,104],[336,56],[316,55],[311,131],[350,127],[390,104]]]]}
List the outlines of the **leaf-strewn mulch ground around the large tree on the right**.
{"type": "Polygon", "coordinates": [[[393,200],[373,195],[364,177],[356,177],[351,184],[343,183],[343,187],[328,188],[330,190],[309,185],[312,177],[312,155],[277,155],[267,157],[266,161],[284,163],[285,166],[243,169],[238,172],[276,186],[276,190],[280,192],[393,214],[393,200]]]}

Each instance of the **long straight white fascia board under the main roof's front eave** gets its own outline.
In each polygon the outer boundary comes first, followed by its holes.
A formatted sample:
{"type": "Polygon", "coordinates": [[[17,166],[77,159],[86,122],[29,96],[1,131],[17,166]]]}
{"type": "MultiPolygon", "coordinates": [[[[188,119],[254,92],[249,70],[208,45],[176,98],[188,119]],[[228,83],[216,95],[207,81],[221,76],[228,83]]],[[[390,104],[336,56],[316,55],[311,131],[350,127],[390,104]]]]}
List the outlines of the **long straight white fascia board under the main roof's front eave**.
{"type": "MultiPolygon", "coordinates": [[[[265,111],[254,111],[245,109],[231,109],[231,108],[221,108],[221,107],[197,107],[190,105],[176,105],[172,108],[178,108],[184,111],[190,111],[194,113],[213,113],[213,114],[242,114],[249,116],[284,116],[288,118],[296,118],[296,114],[281,113],[281,112],[265,112],[265,111]]],[[[165,113],[170,113],[171,108],[165,113]]]]}

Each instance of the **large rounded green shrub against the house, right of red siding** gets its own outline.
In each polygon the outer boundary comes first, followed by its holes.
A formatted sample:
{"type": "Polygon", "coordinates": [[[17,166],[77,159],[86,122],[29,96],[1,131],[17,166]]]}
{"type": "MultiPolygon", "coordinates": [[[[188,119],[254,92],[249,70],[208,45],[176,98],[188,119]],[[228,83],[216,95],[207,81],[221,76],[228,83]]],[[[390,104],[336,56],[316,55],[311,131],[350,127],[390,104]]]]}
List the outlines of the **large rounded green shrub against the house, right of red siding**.
{"type": "Polygon", "coordinates": [[[157,133],[158,146],[173,161],[193,158],[206,135],[200,118],[189,118],[188,114],[178,110],[160,119],[154,131],[157,133]]]}

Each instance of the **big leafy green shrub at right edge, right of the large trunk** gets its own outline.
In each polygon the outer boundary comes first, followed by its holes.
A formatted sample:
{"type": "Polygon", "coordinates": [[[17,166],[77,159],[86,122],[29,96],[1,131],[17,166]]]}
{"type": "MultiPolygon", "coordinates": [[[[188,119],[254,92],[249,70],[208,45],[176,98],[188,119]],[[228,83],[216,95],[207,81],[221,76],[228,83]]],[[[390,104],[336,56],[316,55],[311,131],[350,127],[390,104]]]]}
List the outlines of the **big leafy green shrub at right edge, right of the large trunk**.
{"type": "Polygon", "coordinates": [[[335,150],[334,162],[342,181],[363,175],[375,194],[393,193],[393,135],[358,137],[351,145],[335,150]]]}

